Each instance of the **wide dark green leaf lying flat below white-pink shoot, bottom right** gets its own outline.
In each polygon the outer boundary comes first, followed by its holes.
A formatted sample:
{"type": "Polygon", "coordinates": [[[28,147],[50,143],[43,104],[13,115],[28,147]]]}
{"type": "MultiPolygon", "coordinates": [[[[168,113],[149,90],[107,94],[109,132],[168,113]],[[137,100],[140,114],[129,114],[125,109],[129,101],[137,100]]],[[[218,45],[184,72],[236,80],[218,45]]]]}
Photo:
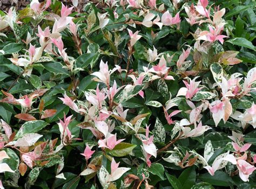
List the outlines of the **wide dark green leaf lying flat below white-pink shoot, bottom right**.
{"type": "Polygon", "coordinates": [[[216,171],[214,176],[211,176],[209,173],[200,174],[198,179],[210,183],[214,186],[230,186],[234,184],[232,178],[223,171],[216,171]]]}

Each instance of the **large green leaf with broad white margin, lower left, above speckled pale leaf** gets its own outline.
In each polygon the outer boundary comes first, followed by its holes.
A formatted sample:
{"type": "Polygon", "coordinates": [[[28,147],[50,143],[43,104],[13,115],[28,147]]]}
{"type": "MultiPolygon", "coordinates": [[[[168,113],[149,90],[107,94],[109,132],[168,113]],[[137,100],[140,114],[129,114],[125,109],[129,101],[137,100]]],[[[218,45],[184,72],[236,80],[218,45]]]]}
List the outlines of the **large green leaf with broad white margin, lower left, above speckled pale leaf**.
{"type": "Polygon", "coordinates": [[[48,125],[48,123],[42,120],[25,122],[18,130],[15,139],[21,138],[28,133],[36,133],[37,131],[43,129],[46,125],[48,125]]]}

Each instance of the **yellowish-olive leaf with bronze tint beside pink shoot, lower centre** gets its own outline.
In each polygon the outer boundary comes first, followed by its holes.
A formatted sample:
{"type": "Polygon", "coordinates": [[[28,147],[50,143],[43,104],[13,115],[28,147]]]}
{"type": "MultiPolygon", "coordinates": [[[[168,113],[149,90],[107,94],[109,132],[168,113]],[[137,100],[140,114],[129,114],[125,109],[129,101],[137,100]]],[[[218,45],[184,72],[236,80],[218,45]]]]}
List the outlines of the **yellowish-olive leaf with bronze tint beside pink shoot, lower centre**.
{"type": "Polygon", "coordinates": [[[126,155],[129,155],[129,153],[131,153],[136,146],[137,146],[136,144],[121,142],[116,146],[114,146],[114,149],[109,151],[109,153],[110,155],[116,156],[116,157],[126,156],[126,155]]]}

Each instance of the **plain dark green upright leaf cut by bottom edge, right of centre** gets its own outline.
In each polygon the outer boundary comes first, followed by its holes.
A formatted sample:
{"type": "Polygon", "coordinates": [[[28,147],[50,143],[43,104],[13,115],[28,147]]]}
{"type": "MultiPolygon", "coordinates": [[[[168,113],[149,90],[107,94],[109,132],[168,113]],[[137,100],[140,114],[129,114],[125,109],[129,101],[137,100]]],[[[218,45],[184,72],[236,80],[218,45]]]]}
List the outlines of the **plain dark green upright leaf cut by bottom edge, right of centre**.
{"type": "Polygon", "coordinates": [[[185,169],[179,176],[183,189],[190,189],[196,183],[196,170],[194,166],[185,169]]]}

